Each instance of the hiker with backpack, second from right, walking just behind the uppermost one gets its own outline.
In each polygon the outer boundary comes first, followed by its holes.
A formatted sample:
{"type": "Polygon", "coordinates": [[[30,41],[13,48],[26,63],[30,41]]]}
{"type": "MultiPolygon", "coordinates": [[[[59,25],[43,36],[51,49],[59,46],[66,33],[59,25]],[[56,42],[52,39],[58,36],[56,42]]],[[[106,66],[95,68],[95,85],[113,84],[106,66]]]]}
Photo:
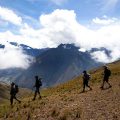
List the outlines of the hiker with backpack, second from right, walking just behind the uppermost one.
{"type": "Polygon", "coordinates": [[[87,73],[86,70],[83,71],[83,91],[85,92],[85,86],[89,87],[90,90],[92,90],[92,88],[88,85],[88,82],[90,80],[90,74],[87,73]]]}

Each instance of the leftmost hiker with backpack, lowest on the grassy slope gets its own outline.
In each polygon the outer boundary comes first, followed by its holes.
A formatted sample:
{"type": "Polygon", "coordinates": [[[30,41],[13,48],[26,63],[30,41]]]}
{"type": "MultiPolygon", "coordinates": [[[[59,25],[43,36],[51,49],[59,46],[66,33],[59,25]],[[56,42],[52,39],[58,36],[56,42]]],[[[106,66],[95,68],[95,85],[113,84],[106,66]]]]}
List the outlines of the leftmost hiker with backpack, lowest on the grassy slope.
{"type": "Polygon", "coordinates": [[[13,99],[17,100],[19,103],[21,103],[20,100],[16,98],[16,94],[18,93],[18,85],[15,85],[14,82],[11,83],[11,90],[10,90],[10,103],[13,105],[13,99]]]}

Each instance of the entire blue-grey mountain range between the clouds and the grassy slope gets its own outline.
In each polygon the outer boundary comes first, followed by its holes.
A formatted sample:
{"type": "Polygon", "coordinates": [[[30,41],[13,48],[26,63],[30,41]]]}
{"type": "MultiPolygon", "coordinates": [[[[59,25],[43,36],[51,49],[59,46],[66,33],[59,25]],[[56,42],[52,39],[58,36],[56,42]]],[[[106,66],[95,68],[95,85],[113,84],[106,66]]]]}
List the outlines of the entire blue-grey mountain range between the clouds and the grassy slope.
{"type": "Polygon", "coordinates": [[[110,54],[105,48],[80,52],[80,48],[74,44],[60,44],[57,48],[50,49],[34,49],[23,44],[19,46],[25,54],[35,57],[36,62],[27,70],[19,68],[0,70],[0,80],[15,81],[20,86],[29,88],[34,84],[35,75],[43,77],[44,86],[53,86],[78,76],[83,70],[90,70],[103,64],[92,58],[92,52],[105,51],[107,55],[110,54]]]}

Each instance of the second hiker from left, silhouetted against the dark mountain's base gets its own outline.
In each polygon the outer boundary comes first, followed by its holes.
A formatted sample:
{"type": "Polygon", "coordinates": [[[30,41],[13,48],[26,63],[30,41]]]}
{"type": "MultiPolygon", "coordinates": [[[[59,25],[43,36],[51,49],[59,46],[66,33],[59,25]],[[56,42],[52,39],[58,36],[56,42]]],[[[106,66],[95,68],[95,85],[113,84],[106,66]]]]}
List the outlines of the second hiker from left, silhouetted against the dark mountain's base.
{"type": "Polygon", "coordinates": [[[42,86],[41,78],[38,78],[38,76],[35,76],[35,85],[34,85],[34,87],[36,88],[36,90],[35,90],[33,100],[36,99],[37,93],[39,94],[39,98],[41,99],[41,95],[40,95],[40,91],[39,91],[41,86],[42,86]]]}

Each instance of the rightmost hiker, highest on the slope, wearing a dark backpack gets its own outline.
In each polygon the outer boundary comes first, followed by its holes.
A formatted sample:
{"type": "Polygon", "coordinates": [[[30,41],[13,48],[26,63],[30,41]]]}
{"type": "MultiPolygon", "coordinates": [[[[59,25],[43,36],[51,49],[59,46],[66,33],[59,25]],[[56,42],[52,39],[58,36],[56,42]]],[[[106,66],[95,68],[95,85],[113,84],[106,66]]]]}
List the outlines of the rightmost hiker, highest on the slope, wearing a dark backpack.
{"type": "Polygon", "coordinates": [[[102,86],[100,87],[101,89],[104,89],[104,83],[106,82],[109,85],[109,88],[111,88],[112,86],[109,83],[109,77],[111,75],[111,71],[108,69],[107,66],[104,66],[104,73],[103,73],[104,77],[103,77],[103,83],[102,86]]]}

